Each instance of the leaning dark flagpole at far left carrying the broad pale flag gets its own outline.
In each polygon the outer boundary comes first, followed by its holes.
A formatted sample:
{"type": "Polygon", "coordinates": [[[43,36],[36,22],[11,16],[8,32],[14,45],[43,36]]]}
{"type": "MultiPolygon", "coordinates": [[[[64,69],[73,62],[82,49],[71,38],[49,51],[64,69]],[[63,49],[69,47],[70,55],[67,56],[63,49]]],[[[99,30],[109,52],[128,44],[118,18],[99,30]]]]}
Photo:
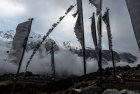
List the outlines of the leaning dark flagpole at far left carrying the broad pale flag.
{"type": "Polygon", "coordinates": [[[28,30],[28,36],[25,38],[25,42],[23,44],[23,51],[22,51],[22,55],[21,55],[21,58],[20,58],[20,61],[19,61],[19,66],[18,66],[18,70],[17,70],[17,73],[16,73],[16,78],[15,78],[14,83],[13,83],[11,94],[14,93],[14,90],[15,90],[15,87],[16,87],[16,82],[18,81],[19,71],[20,71],[20,68],[21,68],[21,64],[22,64],[22,60],[23,60],[24,54],[25,54],[28,37],[29,37],[30,31],[31,31],[31,25],[32,25],[33,18],[29,19],[29,21],[31,21],[31,24],[30,24],[30,28],[28,30]]]}

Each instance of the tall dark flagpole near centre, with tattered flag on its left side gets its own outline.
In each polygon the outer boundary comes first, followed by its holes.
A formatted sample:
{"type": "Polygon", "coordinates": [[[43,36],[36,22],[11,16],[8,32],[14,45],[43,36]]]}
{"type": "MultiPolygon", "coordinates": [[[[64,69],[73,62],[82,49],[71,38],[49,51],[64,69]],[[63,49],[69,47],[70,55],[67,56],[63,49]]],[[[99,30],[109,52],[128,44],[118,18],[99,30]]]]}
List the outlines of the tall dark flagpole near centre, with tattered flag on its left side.
{"type": "Polygon", "coordinates": [[[78,13],[80,15],[80,22],[82,26],[82,49],[83,49],[83,63],[84,63],[84,80],[86,81],[86,58],[85,58],[85,37],[84,37],[84,22],[83,22],[83,8],[82,0],[77,0],[78,13]]]}

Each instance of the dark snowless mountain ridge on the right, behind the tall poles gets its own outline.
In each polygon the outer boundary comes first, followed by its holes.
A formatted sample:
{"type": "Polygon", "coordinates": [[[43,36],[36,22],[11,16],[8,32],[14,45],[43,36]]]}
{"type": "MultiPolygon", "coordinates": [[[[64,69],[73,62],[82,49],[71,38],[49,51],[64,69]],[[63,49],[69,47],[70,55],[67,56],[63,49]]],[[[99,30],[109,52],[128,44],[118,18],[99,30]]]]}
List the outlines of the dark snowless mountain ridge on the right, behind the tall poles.
{"type": "MultiPolygon", "coordinates": [[[[82,57],[82,50],[77,50],[77,51],[73,51],[76,54],[78,54],[78,56],[82,57]]],[[[134,63],[137,61],[137,57],[132,55],[131,53],[127,53],[127,52],[121,52],[121,53],[117,53],[116,51],[113,52],[114,53],[114,60],[116,62],[120,62],[120,61],[124,61],[124,62],[128,62],[128,63],[134,63]]],[[[86,59],[88,58],[95,58],[96,59],[96,52],[93,49],[86,49],[86,59]]],[[[102,56],[106,61],[111,61],[111,53],[109,50],[103,50],[102,52],[102,56]]]]}

